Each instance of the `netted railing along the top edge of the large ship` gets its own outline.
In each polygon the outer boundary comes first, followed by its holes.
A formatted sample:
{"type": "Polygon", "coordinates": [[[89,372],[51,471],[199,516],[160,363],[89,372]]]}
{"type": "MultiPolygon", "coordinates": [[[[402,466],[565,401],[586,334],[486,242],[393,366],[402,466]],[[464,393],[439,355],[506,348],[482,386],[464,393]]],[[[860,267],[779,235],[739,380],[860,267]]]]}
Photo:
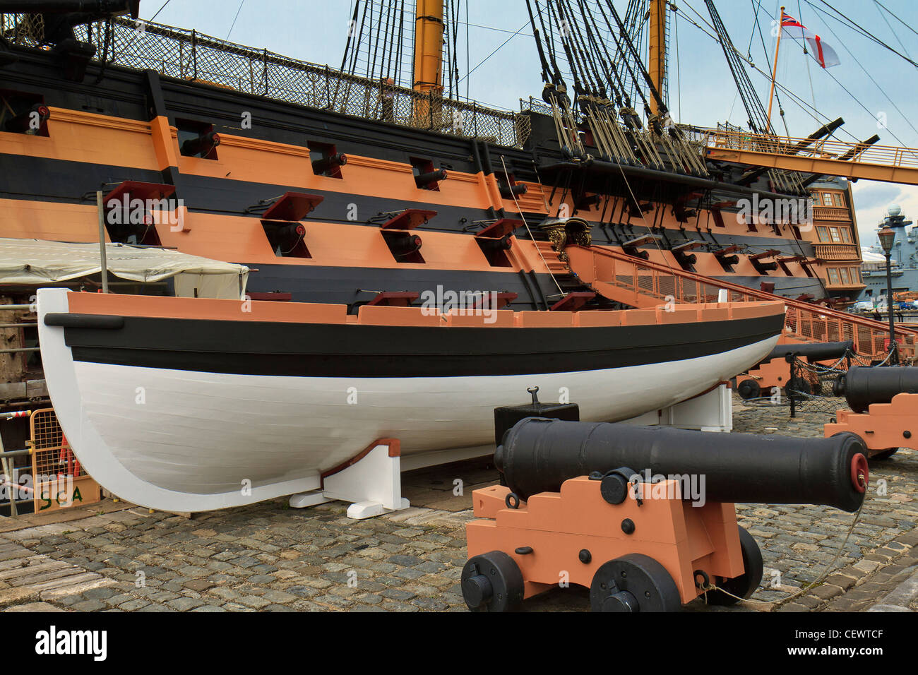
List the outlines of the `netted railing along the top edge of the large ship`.
{"type": "MultiPolygon", "coordinates": [[[[97,60],[179,80],[509,147],[521,147],[532,129],[530,119],[519,113],[421,94],[196,30],[124,17],[113,19],[111,28],[107,51],[105,24],[78,26],[75,31],[77,39],[95,45],[97,60]]],[[[37,17],[0,15],[0,34],[14,44],[40,47],[43,30],[37,17]]]]}

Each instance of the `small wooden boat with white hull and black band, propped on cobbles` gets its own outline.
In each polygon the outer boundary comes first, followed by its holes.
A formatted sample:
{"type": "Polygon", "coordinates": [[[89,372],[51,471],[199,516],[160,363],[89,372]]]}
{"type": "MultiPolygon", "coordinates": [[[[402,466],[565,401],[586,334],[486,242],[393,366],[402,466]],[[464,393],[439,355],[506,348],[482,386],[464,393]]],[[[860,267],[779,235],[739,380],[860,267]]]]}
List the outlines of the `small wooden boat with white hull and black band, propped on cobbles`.
{"type": "Polygon", "coordinates": [[[62,327],[80,323],[74,313],[110,315],[118,301],[39,291],[50,394],[91,475],[171,511],[317,489],[323,470],[384,437],[406,455],[475,446],[485,455],[493,409],[530,387],[577,400],[585,420],[631,418],[755,364],[783,325],[780,303],[684,324],[462,328],[354,325],[343,314],[330,324],[208,319],[229,307],[209,300],[190,300],[198,320],[144,317],[142,300],[123,298],[132,308],[123,328],[62,327]]]}

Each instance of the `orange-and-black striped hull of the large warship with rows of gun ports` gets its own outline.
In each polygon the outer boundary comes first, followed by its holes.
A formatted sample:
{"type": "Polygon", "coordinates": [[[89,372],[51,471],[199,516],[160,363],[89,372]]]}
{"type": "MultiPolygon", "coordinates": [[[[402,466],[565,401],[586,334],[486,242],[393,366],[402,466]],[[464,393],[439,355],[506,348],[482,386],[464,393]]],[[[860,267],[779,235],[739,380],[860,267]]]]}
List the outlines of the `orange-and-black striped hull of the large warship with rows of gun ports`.
{"type": "Polygon", "coordinates": [[[183,228],[108,228],[110,240],[247,264],[259,270],[253,292],[297,301],[354,307],[375,290],[442,286],[549,309],[577,290],[560,252],[540,246],[557,249],[546,221],[569,217],[588,224],[579,242],[679,271],[789,298],[844,295],[827,286],[812,228],[744,212],[756,195],[809,198],[778,195],[767,178],[739,185],[707,170],[620,166],[598,149],[595,162],[572,163],[542,104],[512,113],[442,99],[425,117],[424,96],[409,89],[190,31],[145,24],[139,34],[128,19],[113,34],[111,61],[90,62],[80,82],[42,50],[17,51],[0,70],[17,114],[42,105],[50,116],[37,134],[0,133],[0,236],[95,242],[95,191],[133,181],[159,187],[131,198],[180,203],[183,228]],[[151,51],[185,56],[164,65],[151,51]],[[140,70],[156,64],[163,73],[140,70]],[[201,152],[197,141],[214,134],[218,145],[201,152]],[[290,192],[315,197],[300,242],[259,217],[290,192]],[[406,244],[406,231],[420,245],[406,244]]]}

